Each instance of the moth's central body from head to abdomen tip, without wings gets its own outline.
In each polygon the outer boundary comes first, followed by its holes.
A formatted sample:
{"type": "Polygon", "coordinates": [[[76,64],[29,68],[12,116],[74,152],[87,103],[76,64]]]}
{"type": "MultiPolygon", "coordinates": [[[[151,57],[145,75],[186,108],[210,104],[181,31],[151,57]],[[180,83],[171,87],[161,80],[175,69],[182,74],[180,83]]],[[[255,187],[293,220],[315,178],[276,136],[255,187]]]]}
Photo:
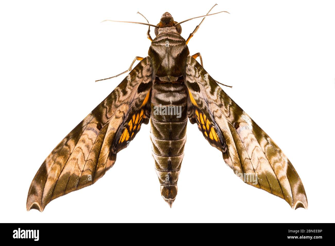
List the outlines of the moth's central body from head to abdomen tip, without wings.
{"type": "Polygon", "coordinates": [[[150,139],[160,191],[170,207],[176,199],[177,181],[184,157],[187,93],[184,83],[190,52],[170,13],[162,15],[148,55],[152,61],[150,139]],[[184,64],[184,66],[182,66],[184,64]]]}

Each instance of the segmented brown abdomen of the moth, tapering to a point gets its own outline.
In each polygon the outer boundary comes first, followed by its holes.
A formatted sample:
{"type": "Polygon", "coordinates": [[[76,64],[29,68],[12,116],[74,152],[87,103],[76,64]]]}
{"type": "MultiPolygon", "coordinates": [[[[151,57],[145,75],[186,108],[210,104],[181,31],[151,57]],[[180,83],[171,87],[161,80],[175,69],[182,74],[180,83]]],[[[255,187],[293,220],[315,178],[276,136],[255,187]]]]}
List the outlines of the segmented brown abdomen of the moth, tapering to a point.
{"type": "Polygon", "coordinates": [[[155,83],[151,96],[150,138],[160,191],[170,207],[184,156],[187,125],[186,87],[181,83],[155,83]]]}

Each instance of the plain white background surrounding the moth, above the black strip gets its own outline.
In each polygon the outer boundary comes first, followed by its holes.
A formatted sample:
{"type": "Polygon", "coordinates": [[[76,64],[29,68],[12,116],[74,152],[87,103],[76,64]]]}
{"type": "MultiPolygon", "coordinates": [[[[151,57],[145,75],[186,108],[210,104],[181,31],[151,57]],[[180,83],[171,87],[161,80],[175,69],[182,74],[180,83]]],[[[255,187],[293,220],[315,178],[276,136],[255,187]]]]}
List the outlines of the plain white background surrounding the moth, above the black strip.
{"type": "MultiPolygon", "coordinates": [[[[279,145],[302,179],[309,209],[244,184],[188,125],[172,209],[160,196],[143,125],[94,185],[26,211],[32,178],[51,150],[150,45],[147,26],[206,14],[210,1],[2,1],[2,222],[334,222],[333,1],[217,1],[191,39],[204,68],[279,145]],[[201,177],[201,179],[199,179],[201,177]]],[[[201,19],[182,24],[187,38],[201,19]]],[[[153,28],[151,30],[154,37],[153,28]]]]}

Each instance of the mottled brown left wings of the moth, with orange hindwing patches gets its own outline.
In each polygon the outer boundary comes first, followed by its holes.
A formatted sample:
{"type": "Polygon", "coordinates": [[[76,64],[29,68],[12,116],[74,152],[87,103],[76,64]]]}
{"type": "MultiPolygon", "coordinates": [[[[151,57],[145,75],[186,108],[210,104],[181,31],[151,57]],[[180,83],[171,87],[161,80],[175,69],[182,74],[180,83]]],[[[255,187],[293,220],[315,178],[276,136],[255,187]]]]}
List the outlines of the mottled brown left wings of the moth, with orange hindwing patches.
{"type": "Polygon", "coordinates": [[[141,123],[148,124],[151,88],[151,59],[146,57],[46,158],[31,182],[27,210],[42,212],[51,200],[102,177],[141,123]]]}

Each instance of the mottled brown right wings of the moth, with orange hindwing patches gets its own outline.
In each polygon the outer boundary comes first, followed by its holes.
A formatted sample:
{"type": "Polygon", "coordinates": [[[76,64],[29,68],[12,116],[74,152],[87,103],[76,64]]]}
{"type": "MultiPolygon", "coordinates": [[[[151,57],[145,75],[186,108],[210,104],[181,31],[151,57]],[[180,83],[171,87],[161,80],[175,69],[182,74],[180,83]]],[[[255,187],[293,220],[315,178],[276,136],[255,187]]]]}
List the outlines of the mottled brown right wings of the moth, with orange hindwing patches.
{"type": "Polygon", "coordinates": [[[185,78],[190,121],[197,122],[210,144],[222,151],[225,163],[244,182],[285,199],[293,209],[307,209],[303,183],[285,154],[192,57],[188,57],[185,78]],[[221,141],[213,137],[213,142],[205,135],[209,131],[202,122],[207,119],[221,141]],[[245,180],[249,174],[255,175],[257,182],[245,180]]]}

